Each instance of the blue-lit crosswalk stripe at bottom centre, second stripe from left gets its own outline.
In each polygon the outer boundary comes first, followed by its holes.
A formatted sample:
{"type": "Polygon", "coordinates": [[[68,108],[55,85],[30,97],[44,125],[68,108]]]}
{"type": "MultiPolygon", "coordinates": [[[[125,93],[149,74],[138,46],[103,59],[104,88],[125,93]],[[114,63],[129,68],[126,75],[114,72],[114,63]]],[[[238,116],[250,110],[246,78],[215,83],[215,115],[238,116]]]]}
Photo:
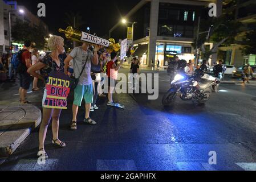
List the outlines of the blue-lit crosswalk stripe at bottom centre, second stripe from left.
{"type": "Polygon", "coordinates": [[[97,171],[137,171],[134,160],[97,160],[97,171]]]}

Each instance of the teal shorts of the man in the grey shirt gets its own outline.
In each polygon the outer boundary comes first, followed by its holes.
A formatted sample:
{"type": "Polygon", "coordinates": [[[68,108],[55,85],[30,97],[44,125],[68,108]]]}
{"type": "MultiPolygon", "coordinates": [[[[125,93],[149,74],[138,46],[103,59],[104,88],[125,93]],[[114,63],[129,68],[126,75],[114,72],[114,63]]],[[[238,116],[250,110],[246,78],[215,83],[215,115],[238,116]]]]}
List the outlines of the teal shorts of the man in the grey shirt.
{"type": "Polygon", "coordinates": [[[73,104],[76,106],[81,106],[83,98],[86,104],[92,104],[93,96],[92,96],[92,84],[91,85],[79,85],[76,86],[74,93],[74,102],[73,104]]]}

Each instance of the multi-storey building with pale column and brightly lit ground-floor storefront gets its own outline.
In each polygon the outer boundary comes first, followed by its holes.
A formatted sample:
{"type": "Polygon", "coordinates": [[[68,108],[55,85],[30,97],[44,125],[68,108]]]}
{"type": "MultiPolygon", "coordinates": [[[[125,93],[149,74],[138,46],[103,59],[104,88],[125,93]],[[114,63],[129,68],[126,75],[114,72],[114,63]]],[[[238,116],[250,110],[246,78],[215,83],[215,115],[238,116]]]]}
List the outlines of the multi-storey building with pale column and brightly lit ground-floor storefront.
{"type": "MultiPolygon", "coordinates": [[[[192,43],[197,34],[198,16],[208,15],[209,3],[216,3],[222,12],[222,1],[209,0],[151,0],[141,1],[125,18],[137,22],[134,29],[134,56],[141,64],[151,65],[180,59],[194,60],[196,51],[192,43]]],[[[120,31],[120,30],[119,30],[120,31]]]]}

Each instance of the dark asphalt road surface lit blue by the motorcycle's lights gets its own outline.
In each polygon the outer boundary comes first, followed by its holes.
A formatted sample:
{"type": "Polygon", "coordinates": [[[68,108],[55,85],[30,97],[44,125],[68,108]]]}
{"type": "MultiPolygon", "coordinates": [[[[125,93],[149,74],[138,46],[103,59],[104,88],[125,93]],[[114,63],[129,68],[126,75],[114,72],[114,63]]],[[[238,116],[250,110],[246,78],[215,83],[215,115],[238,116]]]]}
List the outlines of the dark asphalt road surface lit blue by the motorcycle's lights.
{"type": "MultiPolygon", "coordinates": [[[[50,159],[45,165],[37,164],[36,129],[0,170],[256,170],[256,86],[225,84],[205,106],[177,99],[173,108],[165,108],[161,98],[168,82],[160,72],[157,100],[148,100],[147,94],[115,94],[115,102],[124,104],[124,110],[99,100],[100,109],[91,113],[96,126],[82,123],[81,107],[77,131],[69,130],[70,105],[60,118],[59,138],[66,148],[52,146],[49,129],[46,151],[50,159]],[[210,151],[216,152],[216,165],[209,164],[210,151]]],[[[15,86],[1,85],[0,94],[6,95],[1,103],[18,99],[11,91],[15,86]]],[[[39,107],[40,94],[29,94],[39,107]]]]}

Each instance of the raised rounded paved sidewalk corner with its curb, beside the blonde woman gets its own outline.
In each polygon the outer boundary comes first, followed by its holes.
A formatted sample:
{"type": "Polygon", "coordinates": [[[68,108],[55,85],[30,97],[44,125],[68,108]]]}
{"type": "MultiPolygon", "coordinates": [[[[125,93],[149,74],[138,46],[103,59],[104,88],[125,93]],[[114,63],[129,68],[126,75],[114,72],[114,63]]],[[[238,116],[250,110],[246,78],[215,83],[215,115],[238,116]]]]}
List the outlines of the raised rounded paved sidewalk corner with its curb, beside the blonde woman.
{"type": "Polygon", "coordinates": [[[35,106],[0,105],[0,159],[13,154],[40,122],[41,111],[35,106]]]}

